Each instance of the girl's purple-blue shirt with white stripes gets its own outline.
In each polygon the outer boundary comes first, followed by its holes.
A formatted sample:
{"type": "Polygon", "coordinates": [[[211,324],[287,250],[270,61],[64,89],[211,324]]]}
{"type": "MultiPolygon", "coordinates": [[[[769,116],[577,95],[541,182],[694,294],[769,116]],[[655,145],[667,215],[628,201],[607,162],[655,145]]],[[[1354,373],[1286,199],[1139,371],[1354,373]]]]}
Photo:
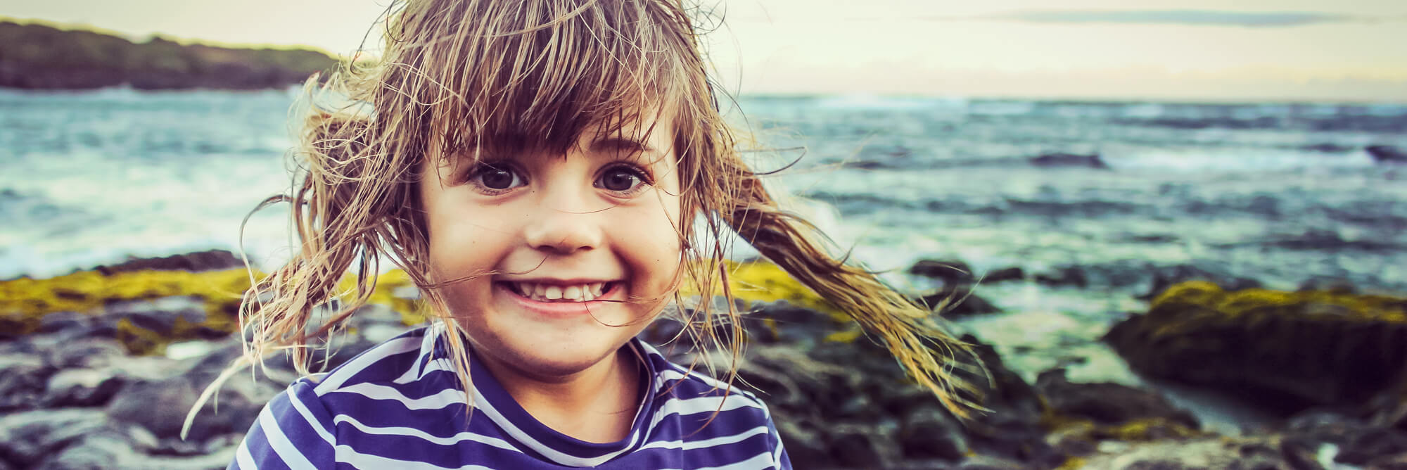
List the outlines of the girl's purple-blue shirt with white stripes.
{"type": "Polygon", "coordinates": [[[466,417],[443,331],[409,331],[294,381],[259,414],[229,469],[791,469],[761,401],[639,339],[626,348],[644,359],[653,393],[619,442],[547,428],[473,357],[466,417]]]}

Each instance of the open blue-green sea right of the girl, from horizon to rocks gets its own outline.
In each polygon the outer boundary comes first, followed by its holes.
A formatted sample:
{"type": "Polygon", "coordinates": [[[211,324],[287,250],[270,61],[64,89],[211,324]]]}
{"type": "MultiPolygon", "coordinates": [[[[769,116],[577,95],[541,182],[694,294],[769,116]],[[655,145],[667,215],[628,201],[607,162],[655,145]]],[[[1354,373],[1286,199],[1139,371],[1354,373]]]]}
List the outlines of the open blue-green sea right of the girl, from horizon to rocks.
{"type": "Polygon", "coordinates": [[[1311,277],[1407,287],[1407,166],[1363,151],[1407,148],[1407,106],[743,106],[778,146],[808,146],[794,172],[805,174],[782,179],[834,205],[839,236],[879,269],[926,256],[976,272],[1189,265],[1282,288],[1311,277]],[[1029,160],[1047,153],[1099,155],[1107,169],[1029,160]]]}

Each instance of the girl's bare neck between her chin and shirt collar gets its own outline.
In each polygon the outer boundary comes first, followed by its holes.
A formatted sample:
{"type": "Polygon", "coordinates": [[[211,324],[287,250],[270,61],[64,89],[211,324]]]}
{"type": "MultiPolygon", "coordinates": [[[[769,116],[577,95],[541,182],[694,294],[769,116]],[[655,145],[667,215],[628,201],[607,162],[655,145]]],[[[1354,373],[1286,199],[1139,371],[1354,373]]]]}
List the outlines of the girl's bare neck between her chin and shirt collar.
{"type": "Polygon", "coordinates": [[[480,355],[480,362],[529,415],[594,443],[625,439],[640,404],[640,360],[630,348],[571,376],[539,377],[480,355]]]}

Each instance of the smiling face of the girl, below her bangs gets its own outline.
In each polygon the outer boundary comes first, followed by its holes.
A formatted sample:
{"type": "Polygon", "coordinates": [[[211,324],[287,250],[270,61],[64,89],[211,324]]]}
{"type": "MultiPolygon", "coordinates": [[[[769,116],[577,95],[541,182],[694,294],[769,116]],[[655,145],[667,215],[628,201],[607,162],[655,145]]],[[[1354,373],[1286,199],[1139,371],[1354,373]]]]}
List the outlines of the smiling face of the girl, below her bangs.
{"type": "MultiPolygon", "coordinates": [[[[537,377],[599,363],[640,332],[680,266],[671,129],[597,136],[425,165],[421,201],[436,281],[480,357],[537,377]]],[[[431,149],[431,162],[440,160],[431,149]]]]}

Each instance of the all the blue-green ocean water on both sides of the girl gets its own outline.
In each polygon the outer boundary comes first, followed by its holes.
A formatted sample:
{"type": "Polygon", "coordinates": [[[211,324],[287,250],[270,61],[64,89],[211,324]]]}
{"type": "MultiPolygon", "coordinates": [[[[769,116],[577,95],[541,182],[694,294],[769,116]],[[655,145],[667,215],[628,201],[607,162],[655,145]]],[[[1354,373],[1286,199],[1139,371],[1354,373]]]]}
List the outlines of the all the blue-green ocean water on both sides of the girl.
{"type": "MultiPolygon", "coordinates": [[[[128,255],[239,242],[241,220],[290,187],[295,90],[0,91],[0,279],[128,255]]],[[[1079,272],[1089,286],[1016,281],[978,296],[1007,314],[961,321],[1024,373],[1137,383],[1095,339],[1138,311],[1151,272],[1189,266],[1294,288],[1310,279],[1407,291],[1403,104],[1168,104],[868,96],[744,97],[778,189],[872,269],[915,291],[919,259],[976,273],[1079,272]],[[805,151],[799,151],[803,148],[805,151]],[[1103,166],[1037,166],[1047,153],[1103,166]]],[[[740,121],[741,122],[741,121],[740,121]]],[[[243,246],[286,259],[286,207],[243,246]]],[[[740,250],[746,253],[746,249],[740,250]]]]}

